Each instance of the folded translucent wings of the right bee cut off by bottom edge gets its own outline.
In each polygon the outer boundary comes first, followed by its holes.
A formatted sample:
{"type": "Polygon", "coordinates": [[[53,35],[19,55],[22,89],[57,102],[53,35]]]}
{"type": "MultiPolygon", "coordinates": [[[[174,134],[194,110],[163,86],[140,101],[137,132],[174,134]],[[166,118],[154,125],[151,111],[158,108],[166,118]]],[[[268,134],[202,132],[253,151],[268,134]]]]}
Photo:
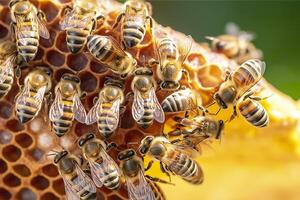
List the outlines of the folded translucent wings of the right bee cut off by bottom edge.
{"type": "Polygon", "coordinates": [[[148,185],[142,170],[139,170],[137,177],[138,179],[136,180],[125,176],[129,199],[154,200],[154,193],[151,187],[148,185]]]}

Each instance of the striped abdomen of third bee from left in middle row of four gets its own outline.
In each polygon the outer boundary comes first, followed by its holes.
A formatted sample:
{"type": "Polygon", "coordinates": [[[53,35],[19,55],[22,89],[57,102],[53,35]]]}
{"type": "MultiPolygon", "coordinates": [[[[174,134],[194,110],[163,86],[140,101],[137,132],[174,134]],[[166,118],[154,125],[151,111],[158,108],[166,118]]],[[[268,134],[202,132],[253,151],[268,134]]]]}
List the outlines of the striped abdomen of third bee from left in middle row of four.
{"type": "Polygon", "coordinates": [[[102,111],[98,118],[98,129],[105,138],[109,138],[114,132],[113,127],[118,121],[115,114],[111,111],[111,103],[103,103],[102,111]]]}

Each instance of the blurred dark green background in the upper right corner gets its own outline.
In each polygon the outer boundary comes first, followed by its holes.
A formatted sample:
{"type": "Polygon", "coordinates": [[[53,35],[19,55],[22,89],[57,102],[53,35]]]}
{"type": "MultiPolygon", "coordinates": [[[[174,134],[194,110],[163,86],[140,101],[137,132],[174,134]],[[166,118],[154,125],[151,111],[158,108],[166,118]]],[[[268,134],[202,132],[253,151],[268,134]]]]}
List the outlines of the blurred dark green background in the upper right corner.
{"type": "Polygon", "coordinates": [[[267,62],[265,77],[300,98],[300,2],[298,1],[150,1],[154,18],[197,41],[224,33],[227,22],[256,33],[255,44],[267,62]]]}

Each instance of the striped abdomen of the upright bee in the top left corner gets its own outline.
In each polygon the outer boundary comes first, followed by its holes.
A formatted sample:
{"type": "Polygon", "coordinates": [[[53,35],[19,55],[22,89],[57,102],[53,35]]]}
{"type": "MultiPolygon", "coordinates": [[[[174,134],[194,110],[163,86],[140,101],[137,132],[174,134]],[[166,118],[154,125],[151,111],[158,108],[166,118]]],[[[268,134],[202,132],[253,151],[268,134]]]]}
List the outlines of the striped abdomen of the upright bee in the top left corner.
{"type": "Polygon", "coordinates": [[[37,23],[25,21],[18,25],[17,49],[19,55],[21,55],[26,62],[34,59],[38,51],[39,38],[37,23]]]}

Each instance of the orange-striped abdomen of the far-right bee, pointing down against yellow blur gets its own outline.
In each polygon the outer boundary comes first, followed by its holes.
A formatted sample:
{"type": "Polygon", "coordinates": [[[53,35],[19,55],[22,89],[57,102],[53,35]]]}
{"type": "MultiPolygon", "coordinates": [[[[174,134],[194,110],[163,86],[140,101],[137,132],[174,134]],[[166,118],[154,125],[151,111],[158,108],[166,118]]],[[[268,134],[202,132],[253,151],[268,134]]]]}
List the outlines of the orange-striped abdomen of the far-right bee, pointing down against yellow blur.
{"type": "Polygon", "coordinates": [[[260,103],[246,99],[239,103],[238,108],[245,119],[254,126],[265,127],[268,125],[268,113],[260,103]]]}

